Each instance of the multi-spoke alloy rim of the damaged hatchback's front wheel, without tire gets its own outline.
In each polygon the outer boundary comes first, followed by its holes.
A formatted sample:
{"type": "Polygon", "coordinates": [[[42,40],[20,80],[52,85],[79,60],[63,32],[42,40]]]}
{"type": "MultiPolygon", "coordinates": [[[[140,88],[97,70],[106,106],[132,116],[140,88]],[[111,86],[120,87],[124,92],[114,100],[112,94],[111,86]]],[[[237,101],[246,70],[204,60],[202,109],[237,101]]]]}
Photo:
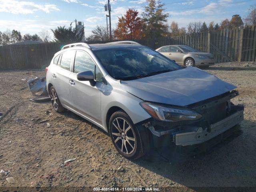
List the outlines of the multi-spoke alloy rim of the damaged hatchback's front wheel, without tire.
{"type": "Polygon", "coordinates": [[[111,134],[116,147],[124,154],[132,154],[135,150],[135,133],[131,125],[124,118],[113,120],[111,134]]]}

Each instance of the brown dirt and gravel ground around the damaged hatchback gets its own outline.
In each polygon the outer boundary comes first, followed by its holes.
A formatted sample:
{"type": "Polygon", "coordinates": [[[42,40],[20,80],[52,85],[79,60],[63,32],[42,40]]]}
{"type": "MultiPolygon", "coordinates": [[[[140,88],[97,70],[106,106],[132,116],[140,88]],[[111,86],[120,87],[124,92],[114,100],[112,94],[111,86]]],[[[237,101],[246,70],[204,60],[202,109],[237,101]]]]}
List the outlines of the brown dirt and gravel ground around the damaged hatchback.
{"type": "Polygon", "coordinates": [[[44,71],[0,72],[0,170],[9,171],[0,173],[0,187],[255,187],[256,62],[216,64],[206,71],[238,87],[232,102],[245,105],[242,134],[200,156],[177,160],[171,149],[158,149],[135,161],[118,154],[108,134],[76,114],[29,101],[22,79],[44,71]],[[76,160],[64,164],[70,158],[76,160]]]}

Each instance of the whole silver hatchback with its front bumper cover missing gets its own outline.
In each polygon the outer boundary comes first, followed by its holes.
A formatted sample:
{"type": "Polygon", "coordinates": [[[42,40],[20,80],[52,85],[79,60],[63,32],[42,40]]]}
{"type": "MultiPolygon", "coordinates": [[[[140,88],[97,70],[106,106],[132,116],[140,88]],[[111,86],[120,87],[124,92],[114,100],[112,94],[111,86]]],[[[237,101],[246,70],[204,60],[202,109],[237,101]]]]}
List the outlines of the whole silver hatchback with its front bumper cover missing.
{"type": "Polygon", "coordinates": [[[46,71],[54,110],[102,128],[126,158],[159,146],[205,149],[243,120],[244,107],[230,102],[235,86],[136,42],[68,44],[46,71]]]}

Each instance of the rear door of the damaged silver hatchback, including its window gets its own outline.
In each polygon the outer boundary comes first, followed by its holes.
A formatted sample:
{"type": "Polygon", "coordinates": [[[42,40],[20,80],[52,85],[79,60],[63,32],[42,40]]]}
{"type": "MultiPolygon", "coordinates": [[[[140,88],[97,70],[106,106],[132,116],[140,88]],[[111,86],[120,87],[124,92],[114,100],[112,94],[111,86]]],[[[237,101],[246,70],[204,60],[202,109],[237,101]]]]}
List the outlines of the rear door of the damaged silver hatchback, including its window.
{"type": "Polygon", "coordinates": [[[63,52],[56,66],[54,66],[54,72],[52,73],[52,83],[60,102],[70,106],[71,98],[69,94],[69,76],[72,60],[74,58],[75,50],[67,50],[63,52]]]}

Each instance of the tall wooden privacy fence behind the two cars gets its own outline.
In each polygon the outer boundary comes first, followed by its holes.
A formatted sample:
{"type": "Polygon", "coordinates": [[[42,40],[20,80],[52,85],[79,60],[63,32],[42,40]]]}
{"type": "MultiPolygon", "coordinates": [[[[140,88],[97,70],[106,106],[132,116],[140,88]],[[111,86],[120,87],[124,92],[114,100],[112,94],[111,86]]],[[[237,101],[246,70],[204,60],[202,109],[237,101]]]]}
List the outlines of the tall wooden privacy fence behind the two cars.
{"type": "MultiPolygon", "coordinates": [[[[164,45],[188,45],[214,54],[216,62],[256,61],[256,26],[134,41],[153,49],[164,45]]],[[[62,46],[61,43],[0,46],[0,70],[44,68],[62,46]]]]}

